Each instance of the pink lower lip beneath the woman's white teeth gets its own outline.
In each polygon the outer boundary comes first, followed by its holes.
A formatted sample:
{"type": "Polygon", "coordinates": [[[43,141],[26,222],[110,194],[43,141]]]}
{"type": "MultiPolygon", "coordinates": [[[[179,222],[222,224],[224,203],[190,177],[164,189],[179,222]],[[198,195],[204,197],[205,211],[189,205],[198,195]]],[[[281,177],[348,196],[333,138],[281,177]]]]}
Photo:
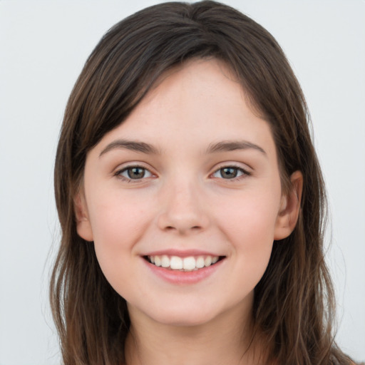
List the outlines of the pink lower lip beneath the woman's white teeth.
{"type": "Polygon", "coordinates": [[[222,262],[225,261],[225,259],[221,259],[215,264],[193,271],[179,271],[179,270],[165,269],[164,267],[151,264],[145,259],[143,260],[148,265],[148,268],[154,274],[158,275],[166,282],[170,282],[171,284],[184,284],[184,285],[196,284],[197,282],[201,282],[202,280],[212,275],[215,271],[217,271],[217,269],[219,269],[220,266],[222,265],[222,262]]]}

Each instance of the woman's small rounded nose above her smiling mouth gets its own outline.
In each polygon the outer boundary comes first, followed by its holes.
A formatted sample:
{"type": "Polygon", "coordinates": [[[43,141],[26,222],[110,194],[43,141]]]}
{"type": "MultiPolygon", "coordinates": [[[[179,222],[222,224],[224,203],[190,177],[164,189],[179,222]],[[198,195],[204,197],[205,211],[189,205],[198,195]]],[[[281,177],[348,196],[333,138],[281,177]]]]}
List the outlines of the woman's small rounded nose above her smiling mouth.
{"type": "Polygon", "coordinates": [[[161,192],[162,209],[158,227],[165,232],[189,235],[205,230],[210,223],[202,192],[189,182],[165,186],[161,192]]]}

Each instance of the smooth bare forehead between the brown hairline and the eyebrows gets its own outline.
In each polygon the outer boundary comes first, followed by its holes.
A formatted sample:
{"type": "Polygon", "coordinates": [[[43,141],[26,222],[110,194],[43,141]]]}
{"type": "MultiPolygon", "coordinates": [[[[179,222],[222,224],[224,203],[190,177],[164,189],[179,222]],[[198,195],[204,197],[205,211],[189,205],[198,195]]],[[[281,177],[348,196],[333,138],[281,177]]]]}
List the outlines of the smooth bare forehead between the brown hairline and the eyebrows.
{"type": "Polygon", "coordinates": [[[161,149],[192,149],[221,140],[250,140],[272,149],[268,123],[222,61],[194,59],[165,72],[128,118],[104,136],[141,140],[161,149]]]}

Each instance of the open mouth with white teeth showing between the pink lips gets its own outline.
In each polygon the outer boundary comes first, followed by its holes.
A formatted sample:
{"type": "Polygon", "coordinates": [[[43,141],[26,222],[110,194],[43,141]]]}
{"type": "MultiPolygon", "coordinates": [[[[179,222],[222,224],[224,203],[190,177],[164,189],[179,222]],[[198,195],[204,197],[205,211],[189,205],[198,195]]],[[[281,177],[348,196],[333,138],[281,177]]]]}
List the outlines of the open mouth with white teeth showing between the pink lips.
{"type": "Polygon", "coordinates": [[[150,264],[158,267],[163,267],[170,270],[178,270],[182,272],[197,271],[204,267],[210,267],[218,261],[225,258],[225,256],[168,256],[168,255],[151,255],[144,257],[150,264]]]}

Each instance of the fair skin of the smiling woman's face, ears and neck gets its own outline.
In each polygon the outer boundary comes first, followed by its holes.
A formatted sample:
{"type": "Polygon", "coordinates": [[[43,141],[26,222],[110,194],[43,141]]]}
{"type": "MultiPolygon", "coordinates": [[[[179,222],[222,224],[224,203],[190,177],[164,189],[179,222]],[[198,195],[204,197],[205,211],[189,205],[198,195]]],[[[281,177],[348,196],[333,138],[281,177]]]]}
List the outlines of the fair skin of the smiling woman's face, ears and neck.
{"type": "Polygon", "coordinates": [[[215,59],[170,71],[88,153],[75,199],[78,234],[94,242],[103,273],[128,303],[128,364],[257,363],[259,344],[246,351],[253,292],[273,241],[297,222],[302,175],[291,180],[292,192],[282,195],[269,125],[215,59]],[[118,140],[154,151],[123,148],[118,140]],[[232,141],[246,148],[207,152],[232,141]],[[133,166],[145,175],[128,180],[133,166]],[[236,178],[221,170],[230,167],[236,178]],[[224,259],[204,279],[177,284],[143,258],[165,250],[224,259]]]}

